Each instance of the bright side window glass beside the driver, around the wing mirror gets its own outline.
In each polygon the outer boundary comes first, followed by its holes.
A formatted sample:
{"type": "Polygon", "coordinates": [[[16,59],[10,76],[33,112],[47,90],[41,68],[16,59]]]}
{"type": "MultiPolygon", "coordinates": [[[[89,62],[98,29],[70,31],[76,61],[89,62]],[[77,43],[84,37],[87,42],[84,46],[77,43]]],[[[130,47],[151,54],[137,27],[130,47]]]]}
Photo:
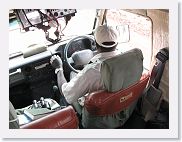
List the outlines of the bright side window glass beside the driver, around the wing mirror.
{"type": "Polygon", "coordinates": [[[109,9],[106,19],[109,25],[129,27],[129,40],[119,42],[118,50],[125,52],[133,48],[141,49],[144,56],[144,67],[149,69],[152,54],[152,22],[150,19],[117,9],[109,9]]]}

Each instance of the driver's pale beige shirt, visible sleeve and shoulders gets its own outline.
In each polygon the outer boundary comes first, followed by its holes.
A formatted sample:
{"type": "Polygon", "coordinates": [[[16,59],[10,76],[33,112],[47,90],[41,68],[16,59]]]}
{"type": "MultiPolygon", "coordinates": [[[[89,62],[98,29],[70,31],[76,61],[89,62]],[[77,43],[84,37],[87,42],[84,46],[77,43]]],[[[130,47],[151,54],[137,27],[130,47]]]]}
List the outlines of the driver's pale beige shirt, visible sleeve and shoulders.
{"type": "Polygon", "coordinates": [[[95,55],[91,59],[93,63],[86,65],[82,71],[70,80],[70,82],[64,83],[62,85],[62,92],[66,101],[69,104],[72,104],[87,93],[103,90],[104,87],[101,82],[100,74],[101,62],[118,54],[120,53],[112,51],[95,55]]]}

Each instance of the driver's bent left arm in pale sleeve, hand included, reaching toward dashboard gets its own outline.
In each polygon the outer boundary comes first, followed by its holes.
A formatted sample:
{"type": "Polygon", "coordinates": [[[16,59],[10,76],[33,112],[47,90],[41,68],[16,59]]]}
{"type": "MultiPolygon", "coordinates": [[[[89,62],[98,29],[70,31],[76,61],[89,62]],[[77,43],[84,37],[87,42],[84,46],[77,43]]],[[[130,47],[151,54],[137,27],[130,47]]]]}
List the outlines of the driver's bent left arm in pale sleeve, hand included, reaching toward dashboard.
{"type": "Polygon", "coordinates": [[[57,74],[59,90],[69,104],[77,101],[78,98],[88,93],[90,89],[93,90],[93,86],[97,86],[100,81],[100,77],[96,77],[95,70],[86,68],[86,70],[80,71],[70,82],[67,82],[63,74],[61,58],[54,55],[51,57],[50,62],[55,68],[55,73],[57,74]]]}

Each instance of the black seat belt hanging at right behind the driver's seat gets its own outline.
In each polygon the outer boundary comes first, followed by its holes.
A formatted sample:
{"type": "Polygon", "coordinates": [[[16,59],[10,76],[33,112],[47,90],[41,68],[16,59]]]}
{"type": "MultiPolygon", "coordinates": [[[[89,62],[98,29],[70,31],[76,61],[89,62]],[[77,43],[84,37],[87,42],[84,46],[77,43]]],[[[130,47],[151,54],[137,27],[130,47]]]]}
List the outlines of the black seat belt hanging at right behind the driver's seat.
{"type": "Polygon", "coordinates": [[[148,87],[146,88],[142,98],[141,112],[145,121],[152,119],[156,115],[160,106],[162,92],[159,89],[159,84],[165,63],[168,59],[169,51],[167,48],[161,49],[156,55],[156,63],[152,69],[148,87]]]}

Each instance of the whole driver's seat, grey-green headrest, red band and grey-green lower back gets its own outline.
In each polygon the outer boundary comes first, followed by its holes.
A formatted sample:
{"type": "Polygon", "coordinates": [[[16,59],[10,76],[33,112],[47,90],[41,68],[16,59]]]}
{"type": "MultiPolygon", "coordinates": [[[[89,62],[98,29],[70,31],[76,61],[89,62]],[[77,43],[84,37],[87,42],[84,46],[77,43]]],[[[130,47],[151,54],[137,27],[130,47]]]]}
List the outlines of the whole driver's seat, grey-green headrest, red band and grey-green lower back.
{"type": "Polygon", "coordinates": [[[101,64],[105,90],[86,96],[82,109],[84,128],[117,128],[132,114],[149,75],[142,76],[143,55],[132,49],[101,64]],[[140,80],[141,79],[141,80],[140,80]]]}

